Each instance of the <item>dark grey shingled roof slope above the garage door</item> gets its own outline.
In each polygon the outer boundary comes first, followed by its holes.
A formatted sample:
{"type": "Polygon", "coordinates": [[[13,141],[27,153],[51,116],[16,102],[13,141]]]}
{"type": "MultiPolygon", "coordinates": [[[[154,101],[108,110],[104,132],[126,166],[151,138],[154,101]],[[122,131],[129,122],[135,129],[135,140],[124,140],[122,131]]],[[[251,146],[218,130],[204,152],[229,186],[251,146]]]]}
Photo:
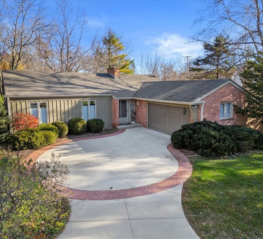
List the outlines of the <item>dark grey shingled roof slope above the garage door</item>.
{"type": "Polygon", "coordinates": [[[136,92],[136,98],[193,102],[224,84],[223,80],[145,82],[136,92]]]}

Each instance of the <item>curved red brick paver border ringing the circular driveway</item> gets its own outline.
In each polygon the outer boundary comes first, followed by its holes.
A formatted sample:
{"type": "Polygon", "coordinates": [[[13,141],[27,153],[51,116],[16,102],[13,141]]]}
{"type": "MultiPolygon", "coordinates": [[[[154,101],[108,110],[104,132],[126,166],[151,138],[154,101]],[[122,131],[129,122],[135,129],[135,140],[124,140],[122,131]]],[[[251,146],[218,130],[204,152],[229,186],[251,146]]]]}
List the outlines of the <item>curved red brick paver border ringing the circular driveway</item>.
{"type": "MultiPolygon", "coordinates": [[[[113,136],[119,133],[124,132],[125,130],[119,130],[113,134],[97,136],[97,137],[88,137],[88,138],[80,138],[75,140],[67,140],[59,143],[55,143],[49,145],[45,148],[41,148],[34,153],[28,156],[32,158],[33,161],[36,161],[37,158],[44,153],[45,151],[54,148],[58,145],[64,143],[70,143],[78,140],[91,139],[91,138],[103,138],[108,136],[113,136]]],[[[105,190],[105,191],[86,191],[86,190],[78,190],[71,189],[64,186],[58,186],[61,189],[61,194],[69,197],[70,199],[77,200],[113,200],[113,199],[124,199],[124,198],[132,198],[137,196],[144,196],[152,193],[161,192],[163,190],[167,190],[169,188],[173,188],[183,182],[185,182],[192,174],[193,168],[189,161],[189,159],[181,153],[178,149],[173,148],[172,144],[167,146],[167,149],[172,155],[176,158],[179,164],[178,171],[173,174],[171,177],[164,179],[158,183],[150,184],[147,186],[137,187],[137,188],[129,188],[129,189],[121,189],[121,190],[105,190]]]]}

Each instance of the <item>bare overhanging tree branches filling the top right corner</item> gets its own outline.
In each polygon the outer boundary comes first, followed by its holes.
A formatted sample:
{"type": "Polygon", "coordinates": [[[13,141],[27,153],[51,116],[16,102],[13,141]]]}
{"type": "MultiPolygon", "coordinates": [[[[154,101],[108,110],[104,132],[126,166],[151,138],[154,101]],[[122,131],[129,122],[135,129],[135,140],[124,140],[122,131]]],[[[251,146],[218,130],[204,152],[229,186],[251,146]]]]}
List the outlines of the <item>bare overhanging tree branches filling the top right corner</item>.
{"type": "MultiPolygon", "coordinates": [[[[222,34],[229,39],[239,58],[235,65],[248,60],[255,52],[263,50],[263,2],[261,0],[215,0],[207,1],[207,17],[201,17],[195,26],[204,23],[192,40],[212,43],[211,39],[222,34]]],[[[241,64],[242,65],[242,64],[241,64]]]]}

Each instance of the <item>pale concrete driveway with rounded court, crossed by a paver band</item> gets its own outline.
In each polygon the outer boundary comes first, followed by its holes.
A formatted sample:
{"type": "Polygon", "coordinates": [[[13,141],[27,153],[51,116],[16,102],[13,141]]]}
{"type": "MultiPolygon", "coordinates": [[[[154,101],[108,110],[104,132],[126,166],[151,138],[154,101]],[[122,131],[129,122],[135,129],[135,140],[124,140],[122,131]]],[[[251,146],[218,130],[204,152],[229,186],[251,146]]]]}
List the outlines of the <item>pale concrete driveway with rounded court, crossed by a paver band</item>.
{"type": "Polygon", "coordinates": [[[173,187],[179,164],[170,143],[169,135],[140,127],[43,153],[38,160],[61,153],[70,169],[64,186],[74,192],[72,211],[58,238],[199,238],[183,213],[182,184],[173,187]]]}

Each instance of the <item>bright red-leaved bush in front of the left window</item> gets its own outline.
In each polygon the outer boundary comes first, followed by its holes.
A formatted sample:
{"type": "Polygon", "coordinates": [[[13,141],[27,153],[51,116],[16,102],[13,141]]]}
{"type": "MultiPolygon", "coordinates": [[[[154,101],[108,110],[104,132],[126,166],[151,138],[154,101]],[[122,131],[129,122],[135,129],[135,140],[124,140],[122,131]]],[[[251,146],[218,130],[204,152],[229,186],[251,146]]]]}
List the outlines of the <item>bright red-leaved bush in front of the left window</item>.
{"type": "Polygon", "coordinates": [[[17,113],[13,116],[13,128],[15,130],[25,129],[25,128],[36,128],[39,124],[39,120],[34,115],[27,113],[17,113]]]}

